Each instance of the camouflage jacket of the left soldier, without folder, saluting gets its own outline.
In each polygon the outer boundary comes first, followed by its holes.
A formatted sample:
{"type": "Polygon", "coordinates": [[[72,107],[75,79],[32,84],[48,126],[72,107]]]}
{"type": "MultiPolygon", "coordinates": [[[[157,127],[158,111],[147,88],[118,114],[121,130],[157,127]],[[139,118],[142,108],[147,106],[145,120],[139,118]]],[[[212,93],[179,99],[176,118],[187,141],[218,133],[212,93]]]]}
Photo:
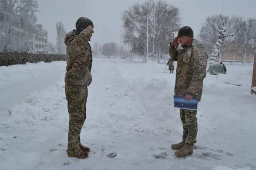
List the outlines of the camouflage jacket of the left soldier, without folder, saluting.
{"type": "Polygon", "coordinates": [[[84,29],[80,34],[69,32],[65,37],[67,45],[67,67],[65,83],[68,86],[89,86],[91,83],[92,55],[88,43],[92,31],[84,29]]]}

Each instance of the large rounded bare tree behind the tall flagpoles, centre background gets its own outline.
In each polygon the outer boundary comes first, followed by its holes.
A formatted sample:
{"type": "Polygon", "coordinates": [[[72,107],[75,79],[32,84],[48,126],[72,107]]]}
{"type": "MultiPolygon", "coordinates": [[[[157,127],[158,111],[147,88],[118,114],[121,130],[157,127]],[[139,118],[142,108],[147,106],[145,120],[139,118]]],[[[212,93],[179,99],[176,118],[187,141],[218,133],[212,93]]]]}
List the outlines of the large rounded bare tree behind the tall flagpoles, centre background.
{"type": "Polygon", "coordinates": [[[131,47],[132,52],[144,56],[147,47],[147,19],[148,46],[152,57],[155,56],[153,46],[158,49],[156,53],[168,54],[172,32],[180,28],[179,9],[165,1],[155,3],[148,0],[142,4],[134,4],[123,12],[123,41],[131,47]]]}

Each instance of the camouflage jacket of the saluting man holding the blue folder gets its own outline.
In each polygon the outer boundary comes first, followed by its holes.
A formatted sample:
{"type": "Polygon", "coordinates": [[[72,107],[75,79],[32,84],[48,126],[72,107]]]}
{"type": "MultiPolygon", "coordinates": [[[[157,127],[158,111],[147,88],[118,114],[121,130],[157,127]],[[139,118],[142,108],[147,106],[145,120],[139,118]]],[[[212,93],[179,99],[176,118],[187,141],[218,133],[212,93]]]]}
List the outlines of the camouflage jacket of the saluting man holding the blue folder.
{"type": "Polygon", "coordinates": [[[177,61],[174,93],[179,96],[188,94],[200,101],[208,54],[196,39],[186,48],[180,50],[176,50],[176,48],[170,44],[171,60],[177,61]]]}

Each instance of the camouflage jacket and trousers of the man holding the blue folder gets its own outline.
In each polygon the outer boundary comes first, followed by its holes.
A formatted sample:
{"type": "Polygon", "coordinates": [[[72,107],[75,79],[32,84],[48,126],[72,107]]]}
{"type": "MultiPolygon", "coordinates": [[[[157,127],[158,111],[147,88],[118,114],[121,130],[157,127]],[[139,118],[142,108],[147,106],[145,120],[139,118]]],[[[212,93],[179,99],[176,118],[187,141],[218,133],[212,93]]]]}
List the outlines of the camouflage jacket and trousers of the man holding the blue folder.
{"type": "MultiPolygon", "coordinates": [[[[201,100],[203,79],[206,76],[208,54],[205,48],[194,39],[192,44],[181,50],[170,45],[169,52],[172,61],[177,61],[175,95],[186,94],[201,100]]],[[[197,137],[197,111],[180,109],[183,124],[183,140],[189,145],[196,143],[197,137]]]]}

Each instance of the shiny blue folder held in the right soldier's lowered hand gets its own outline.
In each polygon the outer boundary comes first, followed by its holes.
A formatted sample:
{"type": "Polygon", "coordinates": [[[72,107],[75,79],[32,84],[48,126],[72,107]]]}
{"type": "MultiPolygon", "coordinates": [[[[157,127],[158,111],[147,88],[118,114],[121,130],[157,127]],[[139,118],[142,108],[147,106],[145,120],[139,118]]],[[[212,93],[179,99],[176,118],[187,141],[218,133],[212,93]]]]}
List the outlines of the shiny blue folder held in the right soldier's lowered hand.
{"type": "Polygon", "coordinates": [[[183,109],[197,110],[197,98],[193,97],[192,100],[185,100],[185,96],[173,96],[174,107],[179,107],[183,109]]]}

